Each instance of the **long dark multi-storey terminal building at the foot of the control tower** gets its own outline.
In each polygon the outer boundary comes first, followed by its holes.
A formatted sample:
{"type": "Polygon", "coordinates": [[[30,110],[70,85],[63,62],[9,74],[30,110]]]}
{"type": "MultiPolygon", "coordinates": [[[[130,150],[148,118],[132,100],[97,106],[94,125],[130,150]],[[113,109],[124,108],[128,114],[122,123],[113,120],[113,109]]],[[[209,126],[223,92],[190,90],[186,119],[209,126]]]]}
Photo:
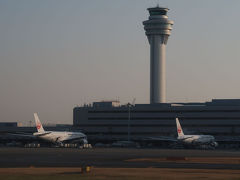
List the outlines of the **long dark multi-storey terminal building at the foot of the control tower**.
{"type": "Polygon", "coordinates": [[[132,140],[176,137],[176,117],[185,134],[210,134],[221,140],[240,139],[240,99],[117,107],[94,102],[93,106],[74,108],[73,126],[82,129],[90,138],[99,139],[127,140],[129,126],[132,140]]]}

